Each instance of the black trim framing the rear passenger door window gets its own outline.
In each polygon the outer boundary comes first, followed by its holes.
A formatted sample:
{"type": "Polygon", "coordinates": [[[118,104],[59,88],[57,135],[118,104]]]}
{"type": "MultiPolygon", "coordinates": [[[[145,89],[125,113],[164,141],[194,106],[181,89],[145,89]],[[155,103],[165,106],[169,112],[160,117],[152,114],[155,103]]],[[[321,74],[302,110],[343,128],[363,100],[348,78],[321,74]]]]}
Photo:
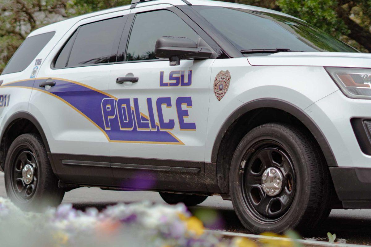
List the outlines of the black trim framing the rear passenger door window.
{"type": "MultiPolygon", "coordinates": [[[[125,16],[128,16],[126,18],[126,20],[122,21],[122,32],[124,32],[124,29],[125,29],[125,26],[126,26],[126,23],[129,19],[129,15],[130,14],[123,14],[123,15],[119,15],[119,16],[114,16],[114,17],[110,17],[110,18],[105,18],[105,19],[101,19],[101,20],[96,20],[96,21],[92,21],[92,22],[88,22],[88,23],[84,23],[84,24],[81,24],[80,26],[78,26],[75,31],[72,32],[72,34],[68,37],[68,39],[65,41],[65,43],[63,43],[63,46],[60,47],[60,49],[58,50],[58,52],[56,53],[56,55],[54,56],[53,60],[52,60],[52,63],[50,64],[50,69],[52,70],[60,70],[60,69],[70,69],[70,68],[79,68],[79,67],[89,67],[89,66],[102,66],[102,65],[109,65],[109,64],[114,64],[115,62],[110,62],[110,63],[96,63],[96,64],[82,64],[80,66],[65,66],[65,67],[62,67],[62,68],[56,68],[55,67],[55,63],[56,63],[56,60],[58,59],[60,53],[62,52],[63,48],[66,46],[66,44],[68,43],[68,41],[71,39],[71,37],[76,33],[76,36],[75,36],[75,39],[73,40],[73,44],[69,50],[69,54],[68,54],[68,57],[67,57],[67,61],[66,61],[66,64],[68,64],[69,62],[69,59],[70,59],[70,56],[71,56],[71,52],[72,52],[72,49],[73,49],[73,45],[75,44],[75,41],[76,41],[76,38],[79,34],[79,31],[80,31],[80,28],[82,26],[85,26],[85,25],[89,25],[89,24],[92,24],[92,23],[96,23],[96,22],[99,22],[99,21],[105,21],[105,20],[110,20],[110,19],[115,19],[115,18],[122,18],[122,17],[125,17],[125,16]]],[[[121,42],[121,36],[119,36],[120,39],[118,40],[118,43],[117,43],[117,51],[119,49],[119,44],[121,42]]],[[[115,41],[114,41],[115,42],[115,41]]],[[[112,48],[113,49],[113,48],[112,48]]],[[[117,52],[116,52],[116,60],[117,60],[117,52]]]]}

